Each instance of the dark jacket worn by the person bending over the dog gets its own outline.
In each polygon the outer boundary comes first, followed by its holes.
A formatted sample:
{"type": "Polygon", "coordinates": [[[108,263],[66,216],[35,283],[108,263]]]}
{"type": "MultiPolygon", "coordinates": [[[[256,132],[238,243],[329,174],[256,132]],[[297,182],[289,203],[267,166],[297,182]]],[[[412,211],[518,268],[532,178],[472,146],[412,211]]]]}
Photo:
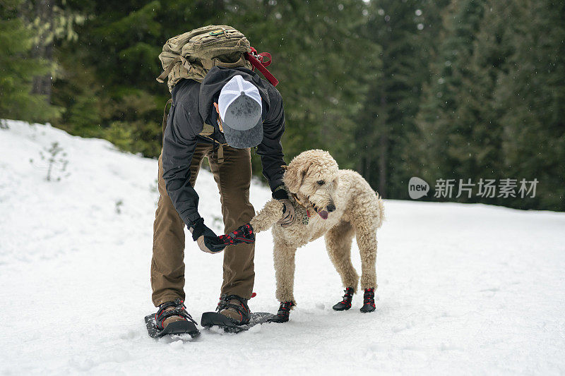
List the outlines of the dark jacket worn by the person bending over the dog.
{"type": "Polygon", "coordinates": [[[242,75],[261,94],[263,141],[257,146],[257,154],[261,156],[263,176],[267,178],[271,190],[283,184],[284,170],[281,166],[285,161],[280,138],[285,132],[285,114],[283,98],[278,90],[246,68],[214,67],[202,83],[182,80],[172,90],[173,106],[163,137],[162,163],[167,193],[187,226],[200,218],[198,194],[190,185],[192,156],[197,143],[210,142],[198,136],[198,133],[201,133],[206,122],[216,128],[213,138],[225,143],[224,136],[218,130],[218,112],[213,103],[218,102],[220,90],[234,75],[242,75]]]}

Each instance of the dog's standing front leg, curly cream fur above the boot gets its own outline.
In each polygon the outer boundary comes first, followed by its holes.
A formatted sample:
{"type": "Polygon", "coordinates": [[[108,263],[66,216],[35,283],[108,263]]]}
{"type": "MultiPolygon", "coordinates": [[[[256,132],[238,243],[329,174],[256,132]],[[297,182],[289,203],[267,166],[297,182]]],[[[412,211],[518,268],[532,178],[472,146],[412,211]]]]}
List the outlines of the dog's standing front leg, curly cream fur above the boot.
{"type": "Polygon", "coordinates": [[[275,278],[277,280],[276,297],[281,303],[295,301],[295,254],[296,248],[287,245],[276,237],[273,258],[275,261],[275,278]]]}

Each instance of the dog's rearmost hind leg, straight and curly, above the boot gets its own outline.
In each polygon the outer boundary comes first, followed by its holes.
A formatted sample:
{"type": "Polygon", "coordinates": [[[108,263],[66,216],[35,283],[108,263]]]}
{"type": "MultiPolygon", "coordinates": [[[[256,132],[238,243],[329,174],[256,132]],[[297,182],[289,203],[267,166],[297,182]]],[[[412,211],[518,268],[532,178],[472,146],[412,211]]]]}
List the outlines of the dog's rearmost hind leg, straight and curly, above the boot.
{"type": "Polygon", "coordinates": [[[368,224],[355,228],[361,255],[361,289],[376,289],[376,226],[368,224]]]}

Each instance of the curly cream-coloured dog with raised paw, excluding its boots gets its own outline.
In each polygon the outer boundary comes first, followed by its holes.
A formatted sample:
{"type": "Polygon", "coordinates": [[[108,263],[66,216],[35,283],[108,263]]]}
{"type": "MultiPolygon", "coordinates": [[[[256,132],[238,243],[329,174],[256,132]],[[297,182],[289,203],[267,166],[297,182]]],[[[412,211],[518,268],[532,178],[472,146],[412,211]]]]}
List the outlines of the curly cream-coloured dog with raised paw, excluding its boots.
{"type": "Polygon", "coordinates": [[[359,275],[351,263],[351,243],[356,236],[362,262],[361,288],[376,289],[376,229],[383,222],[384,206],[369,183],[355,171],[340,170],[335,159],[323,150],[307,150],[297,155],[288,165],[284,181],[292,194],[297,217],[301,210],[304,213],[308,210],[308,224],[300,218],[286,228],[276,224],[283,214],[283,204],[278,200],[267,202],[250,222],[256,233],[273,227],[278,301],[297,303],[296,250],[320,236],[326,238],[328,254],[343,286],[357,292],[359,275]],[[322,217],[324,212],[327,219],[322,217]]]}

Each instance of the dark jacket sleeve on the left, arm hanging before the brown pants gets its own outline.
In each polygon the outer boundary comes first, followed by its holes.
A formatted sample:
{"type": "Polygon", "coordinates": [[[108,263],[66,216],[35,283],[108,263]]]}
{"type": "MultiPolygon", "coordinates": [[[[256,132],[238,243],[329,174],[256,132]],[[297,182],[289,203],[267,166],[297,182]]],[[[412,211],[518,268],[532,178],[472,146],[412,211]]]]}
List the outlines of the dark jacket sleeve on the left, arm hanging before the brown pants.
{"type": "Polygon", "coordinates": [[[190,184],[190,165],[196,150],[196,135],[188,124],[191,114],[181,105],[173,106],[163,137],[163,179],[172,205],[187,227],[198,214],[198,193],[190,184]]]}

